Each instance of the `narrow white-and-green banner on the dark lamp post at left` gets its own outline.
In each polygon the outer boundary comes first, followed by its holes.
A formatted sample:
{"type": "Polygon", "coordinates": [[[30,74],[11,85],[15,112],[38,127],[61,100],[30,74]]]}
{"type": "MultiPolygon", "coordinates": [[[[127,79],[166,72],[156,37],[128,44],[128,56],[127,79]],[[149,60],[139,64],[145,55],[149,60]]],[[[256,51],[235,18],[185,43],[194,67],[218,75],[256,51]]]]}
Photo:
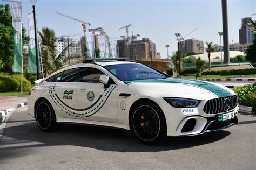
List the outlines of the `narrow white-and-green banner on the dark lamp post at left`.
{"type": "MultiPolygon", "coordinates": [[[[33,12],[28,14],[28,32],[29,32],[29,56],[28,72],[36,73],[36,41],[33,12]]],[[[38,62],[39,63],[39,62],[38,62]]]]}

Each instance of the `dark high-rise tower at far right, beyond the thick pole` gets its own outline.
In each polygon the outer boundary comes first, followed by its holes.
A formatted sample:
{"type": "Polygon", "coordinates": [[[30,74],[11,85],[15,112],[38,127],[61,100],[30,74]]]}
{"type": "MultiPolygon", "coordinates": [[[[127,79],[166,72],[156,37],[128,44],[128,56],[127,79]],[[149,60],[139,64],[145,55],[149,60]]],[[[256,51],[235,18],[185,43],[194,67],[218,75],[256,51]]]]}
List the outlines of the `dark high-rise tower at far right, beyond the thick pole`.
{"type": "Polygon", "coordinates": [[[251,24],[252,17],[242,18],[241,29],[239,29],[239,44],[251,43],[254,33],[250,30],[248,25],[251,24]]]}

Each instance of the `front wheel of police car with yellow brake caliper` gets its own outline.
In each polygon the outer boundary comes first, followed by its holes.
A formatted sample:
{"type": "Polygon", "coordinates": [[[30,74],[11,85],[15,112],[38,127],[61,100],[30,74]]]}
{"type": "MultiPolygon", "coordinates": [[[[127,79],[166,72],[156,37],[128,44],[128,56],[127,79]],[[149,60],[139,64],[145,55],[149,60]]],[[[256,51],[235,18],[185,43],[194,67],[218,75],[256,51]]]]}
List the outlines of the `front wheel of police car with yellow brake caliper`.
{"type": "Polygon", "coordinates": [[[153,102],[140,102],[131,115],[132,130],[146,145],[165,143],[167,139],[166,121],[163,111],[153,102]]]}

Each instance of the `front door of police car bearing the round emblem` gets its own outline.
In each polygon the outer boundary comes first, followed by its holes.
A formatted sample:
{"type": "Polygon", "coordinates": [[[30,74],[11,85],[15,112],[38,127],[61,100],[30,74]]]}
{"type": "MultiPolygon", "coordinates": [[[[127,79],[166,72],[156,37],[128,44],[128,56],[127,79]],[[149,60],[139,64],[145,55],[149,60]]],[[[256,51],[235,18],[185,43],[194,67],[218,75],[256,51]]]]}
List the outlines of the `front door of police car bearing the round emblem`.
{"type": "Polygon", "coordinates": [[[83,119],[117,123],[117,85],[112,81],[109,87],[99,81],[104,73],[92,67],[80,69],[77,86],[77,102],[83,119]]]}

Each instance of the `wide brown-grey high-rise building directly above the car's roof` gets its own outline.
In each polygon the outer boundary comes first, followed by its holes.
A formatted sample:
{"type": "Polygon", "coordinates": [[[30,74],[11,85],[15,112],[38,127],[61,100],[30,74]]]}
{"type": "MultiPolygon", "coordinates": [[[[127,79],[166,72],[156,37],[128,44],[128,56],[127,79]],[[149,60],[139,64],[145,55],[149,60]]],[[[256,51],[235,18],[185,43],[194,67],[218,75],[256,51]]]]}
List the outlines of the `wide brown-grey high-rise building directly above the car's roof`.
{"type": "Polygon", "coordinates": [[[156,44],[149,38],[142,38],[142,40],[130,42],[126,39],[118,40],[117,51],[118,57],[125,57],[130,60],[157,58],[156,44]]]}

